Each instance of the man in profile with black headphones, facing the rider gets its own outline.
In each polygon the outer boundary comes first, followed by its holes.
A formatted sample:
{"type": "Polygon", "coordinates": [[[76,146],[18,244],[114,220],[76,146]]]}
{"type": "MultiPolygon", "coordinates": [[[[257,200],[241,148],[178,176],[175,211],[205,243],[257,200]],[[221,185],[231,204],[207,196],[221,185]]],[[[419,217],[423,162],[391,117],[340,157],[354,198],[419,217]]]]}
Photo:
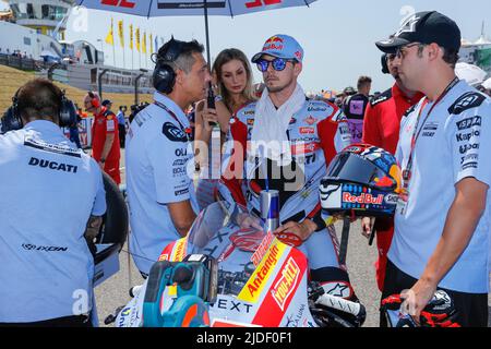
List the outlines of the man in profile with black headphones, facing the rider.
{"type": "Polygon", "coordinates": [[[175,40],[158,51],[154,103],[136,115],[127,137],[130,251],[148,274],[164,248],[184,237],[196,217],[194,158],[185,108],[211,81],[203,46],[175,40]]]}

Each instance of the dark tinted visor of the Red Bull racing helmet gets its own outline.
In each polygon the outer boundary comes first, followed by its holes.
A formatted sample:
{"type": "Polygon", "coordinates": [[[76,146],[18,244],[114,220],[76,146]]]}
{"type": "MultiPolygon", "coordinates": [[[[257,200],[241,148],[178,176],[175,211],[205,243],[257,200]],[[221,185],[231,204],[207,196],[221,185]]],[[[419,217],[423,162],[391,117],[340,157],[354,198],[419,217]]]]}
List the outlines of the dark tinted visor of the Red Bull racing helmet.
{"type": "Polygon", "coordinates": [[[381,168],[352,153],[338,154],[327,168],[326,179],[394,190],[397,182],[381,168]]]}

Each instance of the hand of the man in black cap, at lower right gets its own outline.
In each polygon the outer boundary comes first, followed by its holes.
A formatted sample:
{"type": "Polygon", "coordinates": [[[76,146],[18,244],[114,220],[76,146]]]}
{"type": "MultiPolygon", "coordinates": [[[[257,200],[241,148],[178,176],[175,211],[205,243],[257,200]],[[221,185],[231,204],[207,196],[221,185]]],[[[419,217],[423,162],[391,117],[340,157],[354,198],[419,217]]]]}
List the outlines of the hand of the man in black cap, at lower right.
{"type": "Polygon", "coordinates": [[[419,279],[409,291],[400,294],[404,299],[402,310],[404,309],[406,313],[411,315],[418,326],[421,325],[421,312],[432,300],[434,292],[436,292],[436,286],[430,281],[419,279]]]}

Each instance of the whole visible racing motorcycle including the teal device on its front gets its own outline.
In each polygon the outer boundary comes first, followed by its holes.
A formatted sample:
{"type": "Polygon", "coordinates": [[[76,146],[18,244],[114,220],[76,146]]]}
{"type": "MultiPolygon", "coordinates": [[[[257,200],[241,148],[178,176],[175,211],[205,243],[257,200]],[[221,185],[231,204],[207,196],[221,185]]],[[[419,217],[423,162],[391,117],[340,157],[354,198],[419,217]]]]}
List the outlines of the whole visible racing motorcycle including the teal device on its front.
{"type": "Polygon", "coordinates": [[[303,253],[271,232],[242,229],[244,217],[259,221],[227,202],[204,209],[188,237],[168,245],[145,284],[133,289],[116,326],[362,325],[363,305],[309,282],[303,253]]]}

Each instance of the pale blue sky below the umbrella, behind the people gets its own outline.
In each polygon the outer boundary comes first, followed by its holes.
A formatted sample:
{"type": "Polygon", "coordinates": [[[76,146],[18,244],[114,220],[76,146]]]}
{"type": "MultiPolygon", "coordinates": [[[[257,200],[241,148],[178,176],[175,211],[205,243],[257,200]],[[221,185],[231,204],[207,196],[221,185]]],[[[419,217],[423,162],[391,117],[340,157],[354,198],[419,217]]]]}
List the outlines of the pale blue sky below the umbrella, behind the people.
{"type": "MultiPolygon", "coordinates": [[[[482,21],[487,21],[486,33],[491,36],[491,1],[443,1],[443,0],[318,0],[310,8],[290,8],[276,11],[236,16],[209,17],[212,60],[221,49],[236,47],[248,57],[258,52],[264,40],[273,34],[288,34],[297,38],[306,51],[303,73],[300,83],[306,91],[322,88],[342,89],[356,85],[359,75],[373,79],[373,91],[383,91],[392,85],[390,76],[380,72],[380,52],[374,41],[394,33],[404,17],[405,9],[416,11],[438,10],[460,26],[463,36],[475,40],[481,32],[482,21]]],[[[70,40],[87,39],[100,47],[97,39],[104,39],[108,33],[111,15],[116,23],[133,23],[141,31],[169,39],[188,40],[196,38],[205,43],[204,20],[201,16],[156,17],[129,16],[119,13],[88,11],[86,32],[74,31],[72,16],[68,23],[70,40]]],[[[116,34],[116,33],[115,33],[116,34]]],[[[128,40],[128,38],[127,38],[128,40]]],[[[116,38],[119,43],[119,39],[116,38]]],[[[112,64],[112,49],[104,44],[106,62],[112,64]]],[[[139,62],[137,52],[134,61],[139,62]]],[[[143,57],[142,57],[143,60],[143,57]]],[[[117,65],[122,65],[122,49],[116,47],[117,65]]],[[[131,52],[127,48],[127,68],[131,68],[131,52]]],[[[142,64],[145,65],[145,64],[142,64]]],[[[148,62],[148,68],[151,63],[148,62]]],[[[260,81],[254,70],[255,81],[260,81]]]]}

